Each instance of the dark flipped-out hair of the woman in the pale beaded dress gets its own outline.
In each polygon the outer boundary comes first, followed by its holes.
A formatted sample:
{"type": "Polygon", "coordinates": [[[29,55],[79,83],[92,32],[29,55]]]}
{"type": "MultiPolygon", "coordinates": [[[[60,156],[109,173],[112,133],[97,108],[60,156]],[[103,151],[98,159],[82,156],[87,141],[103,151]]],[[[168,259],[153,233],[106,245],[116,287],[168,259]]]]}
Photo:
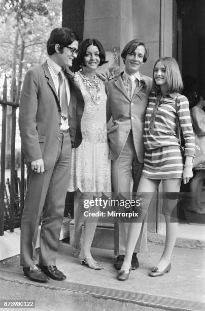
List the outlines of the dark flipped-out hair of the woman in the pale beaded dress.
{"type": "Polygon", "coordinates": [[[80,43],[78,48],[78,56],[76,58],[77,64],[80,67],[85,66],[84,56],[86,54],[88,46],[90,45],[96,46],[99,50],[99,58],[100,58],[99,66],[108,63],[108,61],[106,60],[106,52],[104,50],[103,45],[101,45],[101,43],[97,39],[85,39],[80,43]]]}

